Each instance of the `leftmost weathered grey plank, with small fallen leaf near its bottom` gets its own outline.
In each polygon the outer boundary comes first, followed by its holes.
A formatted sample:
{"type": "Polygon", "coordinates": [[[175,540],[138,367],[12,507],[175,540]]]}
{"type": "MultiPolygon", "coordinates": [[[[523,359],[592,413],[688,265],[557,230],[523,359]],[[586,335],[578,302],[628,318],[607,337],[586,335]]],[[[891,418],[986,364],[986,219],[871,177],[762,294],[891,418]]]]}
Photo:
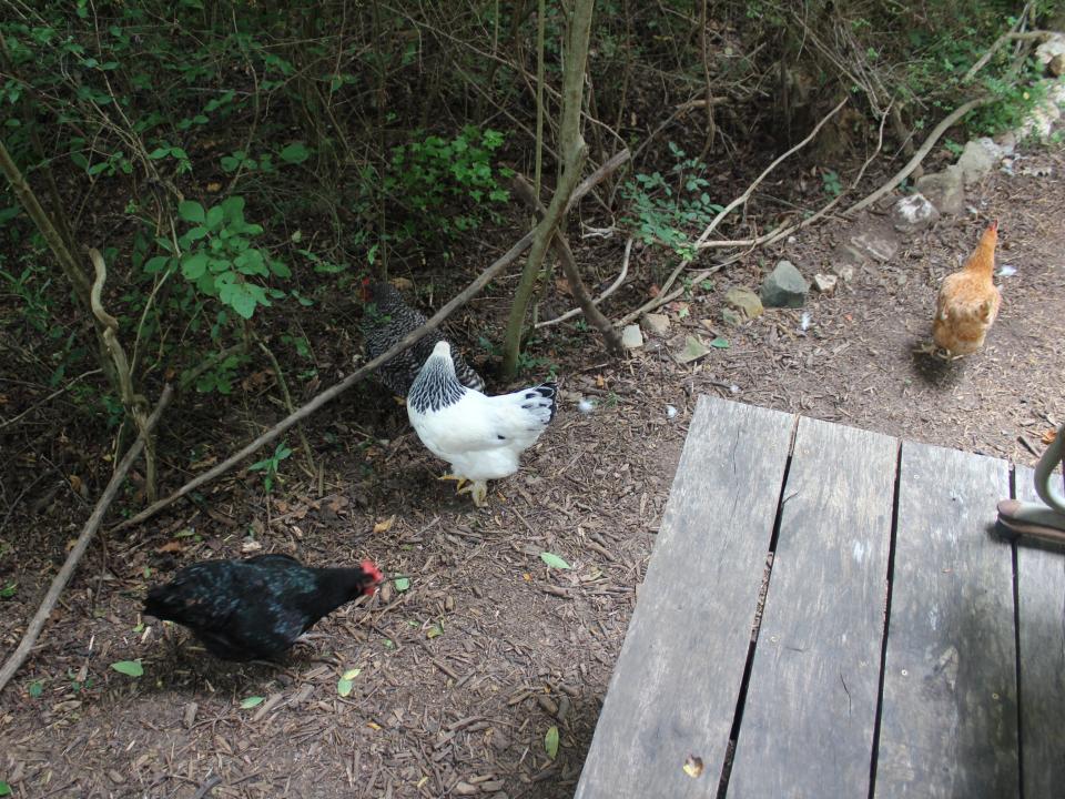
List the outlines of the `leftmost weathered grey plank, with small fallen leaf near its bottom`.
{"type": "Polygon", "coordinates": [[[793,427],[699,398],[577,799],[714,796],[793,427]]]}

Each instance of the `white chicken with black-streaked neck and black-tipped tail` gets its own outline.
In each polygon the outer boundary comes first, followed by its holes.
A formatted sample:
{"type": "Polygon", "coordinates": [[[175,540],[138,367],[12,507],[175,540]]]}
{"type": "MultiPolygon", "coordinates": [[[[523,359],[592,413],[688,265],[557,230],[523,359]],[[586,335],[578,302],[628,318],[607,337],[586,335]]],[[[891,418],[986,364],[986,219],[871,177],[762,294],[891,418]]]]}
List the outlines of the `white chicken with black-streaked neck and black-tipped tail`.
{"type": "Polygon", "coordinates": [[[555,393],[554,383],[499,396],[467,388],[455,375],[450,345],[442,341],[410,386],[407,416],[429,452],[450,464],[442,479],[457,479],[458,493],[485,507],[487,481],[517,472],[521,453],[555,418],[555,393]]]}

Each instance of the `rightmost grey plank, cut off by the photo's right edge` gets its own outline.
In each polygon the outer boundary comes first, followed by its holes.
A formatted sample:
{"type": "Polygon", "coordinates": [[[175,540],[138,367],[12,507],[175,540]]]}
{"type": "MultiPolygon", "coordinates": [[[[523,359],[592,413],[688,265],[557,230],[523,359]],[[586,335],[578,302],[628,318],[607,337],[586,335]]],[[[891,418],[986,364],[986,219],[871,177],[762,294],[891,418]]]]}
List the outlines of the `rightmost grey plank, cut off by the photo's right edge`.
{"type": "MultiPolygon", "coordinates": [[[[1017,466],[1016,498],[1042,502],[1033,469],[1017,466]]],[[[1057,799],[1065,787],[1065,550],[1017,544],[1021,773],[1025,799],[1057,799]]]]}

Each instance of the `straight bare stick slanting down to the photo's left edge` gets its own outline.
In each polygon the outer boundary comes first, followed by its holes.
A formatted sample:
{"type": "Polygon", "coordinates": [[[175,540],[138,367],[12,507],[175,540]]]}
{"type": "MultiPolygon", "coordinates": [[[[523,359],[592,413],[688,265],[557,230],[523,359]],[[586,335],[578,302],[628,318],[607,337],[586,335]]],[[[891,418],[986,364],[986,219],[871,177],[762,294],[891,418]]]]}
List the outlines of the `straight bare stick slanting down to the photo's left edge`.
{"type": "Polygon", "coordinates": [[[140,455],[141,449],[144,448],[146,436],[151,434],[152,428],[159,423],[160,417],[163,415],[163,409],[170,403],[170,398],[173,396],[173,387],[168,383],[163,387],[163,393],[159,397],[159,402],[155,404],[155,409],[152,411],[152,415],[148,417],[145,428],[141,431],[141,435],[139,435],[136,441],[133,442],[125,455],[122,457],[122,461],[119,463],[118,467],[114,469],[114,474],[111,475],[111,482],[108,483],[108,487],[103,489],[103,494],[100,496],[99,502],[97,502],[97,506],[93,508],[89,520],[85,522],[85,526],[82,527],[81,534],[78,536],[78,540],[74,543],[73,549],[71,549],[70,555],[67,556],[67,562],[52,580],[52,585],[49,587],[48,594],[44,595],[41,606],[38,608],[37,613],[33,614],[33,618],[30,620],[30,624],[26,628],[26,633],[22,635],[22,640],[19,641],[19,646],[16,647],[14,651],[11,654],[11,657],[9,657],[7,663],[3,664],[3,668],[0,668],[0,691],[2,691],[4,686],[8,685],[16,671],[22,667],[22,664],[26,663],[26,658],[29,657],[30,650],[33,649],[33,645],[37,643],[38,637],[41,635],[41,630],[44,628],[44,625],[48,621],[48,617],[51,616],[52,610],[55,609],[55,603],[59,601],[59,595],[62,594],[63,588],[67,587],[67,584],[74,574],[74,569],[78,568],[78,564],[81,562],[82,556],[84,556],[85,550],[89,548],[89,544],[92,542],[93,536],[100,528],[101,522],[103,522],[104,514],[106,514],[108,508],[111,507],[111,503],[114,502],[114,497],[119,493],[122,481],[125,479],[126,472],[130,471],[130,467],[133,465],[136,456],[140,455]]]}

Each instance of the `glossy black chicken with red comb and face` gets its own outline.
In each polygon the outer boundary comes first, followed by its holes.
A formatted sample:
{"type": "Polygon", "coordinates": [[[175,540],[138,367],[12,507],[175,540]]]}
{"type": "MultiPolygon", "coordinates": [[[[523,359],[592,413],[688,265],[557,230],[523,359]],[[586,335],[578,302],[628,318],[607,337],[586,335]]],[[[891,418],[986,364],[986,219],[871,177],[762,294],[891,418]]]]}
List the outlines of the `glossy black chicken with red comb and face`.
{"type": "Polygon", "coordinates": [[[383,579],[369,560],[355,568],[311,568],[280,554],[204,560],[152,588],[144,613],[184,625],[223,660],[268,658],[383,579]]]}

